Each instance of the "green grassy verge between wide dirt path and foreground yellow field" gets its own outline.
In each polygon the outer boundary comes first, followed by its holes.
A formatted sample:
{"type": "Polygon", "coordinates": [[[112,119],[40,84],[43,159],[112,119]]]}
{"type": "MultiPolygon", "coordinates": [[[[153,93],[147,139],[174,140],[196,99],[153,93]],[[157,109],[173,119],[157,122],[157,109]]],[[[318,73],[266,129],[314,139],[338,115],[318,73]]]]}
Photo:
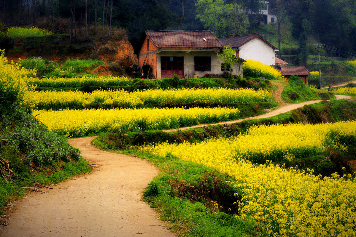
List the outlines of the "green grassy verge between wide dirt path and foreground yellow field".
{"type": "MultiPolygon", "coordinates": [[[[106,146],[100,138],[94,139],[93,144],[101,149],[106,146]]],[[[241,190],[232,187],[233,180],[225,174],[171,155],[119,152],[147,158],[161,170],[146,188],[143,200],[156,208],[172,231],[194,237],[265,236],[254,221],[235,217],[239,213],[232,203],[241,199],[241,190]],[[211,201],[217,201],[218,207],[211,201]]]]}

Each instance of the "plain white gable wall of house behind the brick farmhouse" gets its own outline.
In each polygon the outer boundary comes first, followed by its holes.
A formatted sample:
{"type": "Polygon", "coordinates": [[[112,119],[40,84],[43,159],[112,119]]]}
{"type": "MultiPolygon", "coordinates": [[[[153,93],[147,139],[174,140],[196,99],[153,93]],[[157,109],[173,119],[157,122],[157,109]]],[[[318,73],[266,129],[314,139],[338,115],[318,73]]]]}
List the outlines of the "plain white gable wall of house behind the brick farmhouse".
{"type": "Polygon", "coordinates": [[[260,38],[252,39],[239,47],[239,56],[245,60],[252,59],[266,65],[275,65],[274,49],[260,38]]]}

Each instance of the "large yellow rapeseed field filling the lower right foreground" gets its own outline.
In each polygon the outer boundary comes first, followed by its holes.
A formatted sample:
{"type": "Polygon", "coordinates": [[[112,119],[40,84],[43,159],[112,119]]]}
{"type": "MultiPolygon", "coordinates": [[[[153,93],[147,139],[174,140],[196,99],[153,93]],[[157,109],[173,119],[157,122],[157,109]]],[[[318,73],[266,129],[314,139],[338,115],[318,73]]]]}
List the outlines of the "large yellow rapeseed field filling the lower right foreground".
{"type": "Polygon", "coordinates": [[[260,222],[269,236],[351,237],[356,235],[356,179],[351,175],[321,179],[309,170],[304,173],[271,163],[256,166],[249,161],[258,152],[282,150],[287,159],[293,159],[290,150],[298,147],[323,150],[321,141],[330,130],[355,136],[356,122],[252,127],[248,135],[236,138],[162,143],[140,150],[161,156],[170,153],[234,177],[242,191],[242,200],[235,203],[241,217],[260,222]]]}

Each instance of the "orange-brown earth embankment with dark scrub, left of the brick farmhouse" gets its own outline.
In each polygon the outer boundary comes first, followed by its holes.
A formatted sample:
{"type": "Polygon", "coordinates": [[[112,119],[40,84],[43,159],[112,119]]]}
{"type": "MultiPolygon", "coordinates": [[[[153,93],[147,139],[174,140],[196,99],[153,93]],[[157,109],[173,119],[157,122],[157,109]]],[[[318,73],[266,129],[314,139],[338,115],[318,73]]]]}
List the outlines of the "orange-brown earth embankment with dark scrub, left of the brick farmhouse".
{"type": "Polygon", "coordinates": [[[138,63],[136,54],[126,35],[117,39],[77,39],[70,42],[69,36],[11,38],[6,56],[11,61],[41,56],[48,60],[64,62],[67,59],[99,59],[106,65],[92,70],[99,76],[127,76],[125,69],[138,63]]]}

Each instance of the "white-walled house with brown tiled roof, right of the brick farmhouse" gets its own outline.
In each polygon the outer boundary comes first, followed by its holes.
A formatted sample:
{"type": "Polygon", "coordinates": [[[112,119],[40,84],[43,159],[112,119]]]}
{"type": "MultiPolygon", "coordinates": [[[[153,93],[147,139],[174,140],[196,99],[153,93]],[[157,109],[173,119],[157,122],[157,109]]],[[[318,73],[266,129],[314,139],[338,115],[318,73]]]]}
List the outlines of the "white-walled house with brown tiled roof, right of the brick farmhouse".
{"type": "Polygon", "coordinates": [[[275,52],[278,51],[277,48],[268,43],[258,33],[221,37],[219,40],[225,46],[230,43],[232,48],[236,49],[237,56],[242,59],[252,59],[266,65],[276,65],[275,52]]]}

